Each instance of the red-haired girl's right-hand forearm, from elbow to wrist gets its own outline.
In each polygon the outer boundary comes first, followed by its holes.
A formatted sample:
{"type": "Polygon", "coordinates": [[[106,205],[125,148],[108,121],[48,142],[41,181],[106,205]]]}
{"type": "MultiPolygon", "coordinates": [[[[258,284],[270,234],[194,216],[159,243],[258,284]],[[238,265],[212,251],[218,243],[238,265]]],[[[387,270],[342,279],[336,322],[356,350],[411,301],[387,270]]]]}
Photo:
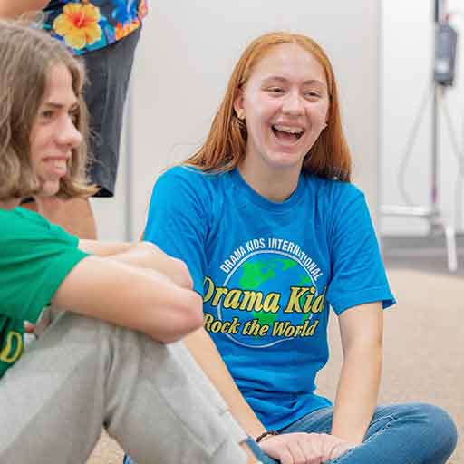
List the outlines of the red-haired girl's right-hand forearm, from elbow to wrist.
{"type": "Polygon", "coordinates": [[[353,346],[345,353],[333,409],[332,434],[360,444],[377,404],[382,345],[353,346]]]}

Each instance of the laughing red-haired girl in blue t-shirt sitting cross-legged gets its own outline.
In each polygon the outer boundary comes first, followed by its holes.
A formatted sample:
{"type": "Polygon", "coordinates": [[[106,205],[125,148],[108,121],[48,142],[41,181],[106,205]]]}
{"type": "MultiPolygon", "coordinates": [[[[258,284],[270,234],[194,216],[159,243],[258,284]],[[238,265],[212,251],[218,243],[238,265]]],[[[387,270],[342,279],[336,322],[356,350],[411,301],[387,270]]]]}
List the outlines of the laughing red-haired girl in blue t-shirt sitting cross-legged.
{"type": "Polygon", "coordinates": [[[157,180],[144,237],[189,266],[206,331],[186,343],[263,462],[441,464],[457,440],[447,412],[377,406],[394,298],[350,179],[328,57],[304,35],[264,34],[205,144],[157,180]],[[334,404],[315,393],[330,306],[344,355],[334,404]]]}

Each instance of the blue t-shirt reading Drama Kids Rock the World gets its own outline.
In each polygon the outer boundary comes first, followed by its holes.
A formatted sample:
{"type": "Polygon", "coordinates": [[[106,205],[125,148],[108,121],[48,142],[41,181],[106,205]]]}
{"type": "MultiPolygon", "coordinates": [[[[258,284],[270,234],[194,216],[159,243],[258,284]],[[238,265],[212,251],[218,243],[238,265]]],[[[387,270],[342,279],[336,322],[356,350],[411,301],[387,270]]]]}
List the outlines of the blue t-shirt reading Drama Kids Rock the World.
{"type": "Polygon", "coordinates": [[[189,266],[205,328],[268,429],[331,405],[314,393],[329,306],[394,303],[364,196],[349,183],[302,173],[275,203],[237,169],[176,167],[156,182],[145,239],[189,266]]]}

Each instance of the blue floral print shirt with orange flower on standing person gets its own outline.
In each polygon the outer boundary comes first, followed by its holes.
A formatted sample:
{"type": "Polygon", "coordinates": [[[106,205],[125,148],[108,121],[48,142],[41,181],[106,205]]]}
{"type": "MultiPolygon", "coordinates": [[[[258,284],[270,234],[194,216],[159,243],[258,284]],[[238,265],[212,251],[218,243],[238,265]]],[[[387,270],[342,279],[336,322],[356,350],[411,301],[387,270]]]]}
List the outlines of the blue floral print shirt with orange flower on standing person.
{"type": "Polygon", "coordinates": [[[79,55],[105,48],[138,29],[148,0],[51,0],[43,29],[79,55]]]}

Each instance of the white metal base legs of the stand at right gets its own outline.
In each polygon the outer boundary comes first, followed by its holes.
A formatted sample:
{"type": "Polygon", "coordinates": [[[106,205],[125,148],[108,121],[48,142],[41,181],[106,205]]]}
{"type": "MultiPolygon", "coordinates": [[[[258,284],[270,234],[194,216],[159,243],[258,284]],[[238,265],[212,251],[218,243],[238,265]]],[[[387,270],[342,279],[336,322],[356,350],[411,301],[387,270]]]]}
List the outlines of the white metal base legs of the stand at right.
{"type": "Polygon", "coordinates": [[[383,216],[399,216],[410,218],[425,218],[429,221],[430,236],[444,234],[448,258],[449,272],[458,270],[458,253],[456,250],[456,230],[443,221],[438,209],[423,207],[384,206],[381,208],[383,216]]]}

